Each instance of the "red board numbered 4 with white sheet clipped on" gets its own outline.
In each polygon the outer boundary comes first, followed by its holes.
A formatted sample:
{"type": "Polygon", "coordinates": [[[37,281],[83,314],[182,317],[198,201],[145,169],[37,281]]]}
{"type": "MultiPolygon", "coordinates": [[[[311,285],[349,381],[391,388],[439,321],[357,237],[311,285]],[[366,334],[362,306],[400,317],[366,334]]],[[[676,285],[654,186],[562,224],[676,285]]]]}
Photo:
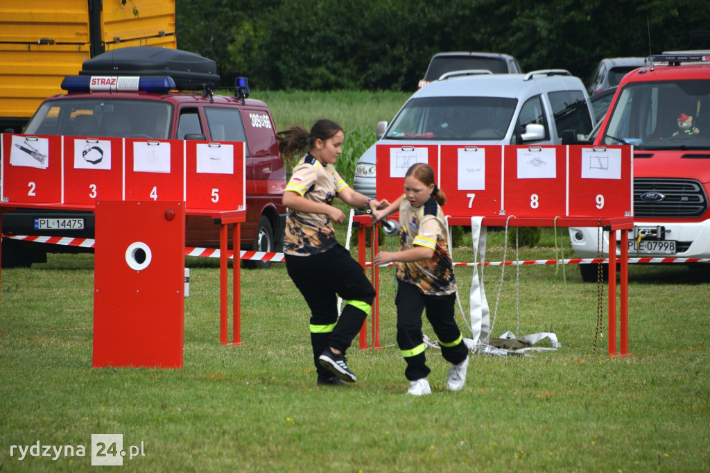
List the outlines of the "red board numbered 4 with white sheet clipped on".
{"type": "Polygon", "coordinates": [[[185,141],[126,139],[125,200],[185,201],[185,141]]]}

